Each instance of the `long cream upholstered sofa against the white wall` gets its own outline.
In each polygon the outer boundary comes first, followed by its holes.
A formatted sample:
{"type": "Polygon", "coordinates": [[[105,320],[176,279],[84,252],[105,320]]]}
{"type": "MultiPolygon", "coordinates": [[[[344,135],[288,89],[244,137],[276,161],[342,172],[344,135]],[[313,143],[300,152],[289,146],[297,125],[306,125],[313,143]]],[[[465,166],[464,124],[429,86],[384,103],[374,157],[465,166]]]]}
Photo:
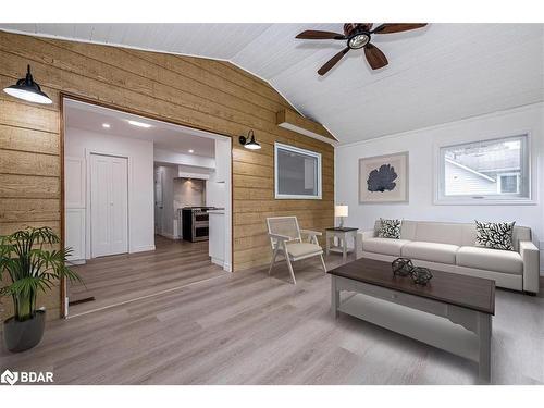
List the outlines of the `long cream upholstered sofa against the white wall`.
{"type": "Polygon", "coordinates": [[[400,239],[378,238],[374,230],[358,234],[357,258],[393,261],[494,280],[497,286],[539,293],[539,249],[527,226],[514,227],[515,250],[475,246],[475,225],[403,220],[400,239]]]}

